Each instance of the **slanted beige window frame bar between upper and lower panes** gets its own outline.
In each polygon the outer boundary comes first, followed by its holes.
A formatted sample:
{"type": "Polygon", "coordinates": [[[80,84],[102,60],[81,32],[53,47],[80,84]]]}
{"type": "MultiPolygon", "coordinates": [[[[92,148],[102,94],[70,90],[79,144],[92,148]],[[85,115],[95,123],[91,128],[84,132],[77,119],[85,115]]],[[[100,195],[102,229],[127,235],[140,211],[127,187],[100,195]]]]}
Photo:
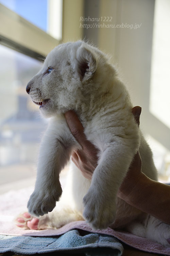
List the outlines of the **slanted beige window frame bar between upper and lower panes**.
{"type": "Polygon", "coordinates": [[[46,56],[58,40],[0,4],[0,43],[34,58],[46,56]]]}

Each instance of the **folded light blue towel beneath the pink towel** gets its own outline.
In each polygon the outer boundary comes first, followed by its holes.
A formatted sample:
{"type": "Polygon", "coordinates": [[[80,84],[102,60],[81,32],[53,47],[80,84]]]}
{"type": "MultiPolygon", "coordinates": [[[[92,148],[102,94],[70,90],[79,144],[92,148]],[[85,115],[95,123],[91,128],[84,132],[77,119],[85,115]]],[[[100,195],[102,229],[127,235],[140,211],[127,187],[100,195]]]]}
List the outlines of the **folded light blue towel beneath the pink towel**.
{"type": "Polygon", "coordinates": [[[0,235],[0,253],[5,252],[19,254],[63,252],[84,253],[87,256],[120,256],[123,253],[123,246],[118,239],[110,235],[74,229],[53,237],[0,235]]]}

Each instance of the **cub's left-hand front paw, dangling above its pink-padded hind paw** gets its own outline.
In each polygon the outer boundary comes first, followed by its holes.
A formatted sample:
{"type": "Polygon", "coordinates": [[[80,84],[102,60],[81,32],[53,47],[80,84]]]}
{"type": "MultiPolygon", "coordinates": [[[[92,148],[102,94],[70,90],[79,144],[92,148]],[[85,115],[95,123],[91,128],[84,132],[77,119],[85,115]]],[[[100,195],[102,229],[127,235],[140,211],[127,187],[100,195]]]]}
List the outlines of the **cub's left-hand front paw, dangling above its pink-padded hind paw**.
{"type": "Polygon", "coordinates": [[[43,216],[48,212],[52,212],[55,207],[56,201],[59,200],[62,194],[61,186],[57,191],[45,192],[43,190],[34,191],[30,196],[27,204],[28,211],[33,216],[43,216]]]}

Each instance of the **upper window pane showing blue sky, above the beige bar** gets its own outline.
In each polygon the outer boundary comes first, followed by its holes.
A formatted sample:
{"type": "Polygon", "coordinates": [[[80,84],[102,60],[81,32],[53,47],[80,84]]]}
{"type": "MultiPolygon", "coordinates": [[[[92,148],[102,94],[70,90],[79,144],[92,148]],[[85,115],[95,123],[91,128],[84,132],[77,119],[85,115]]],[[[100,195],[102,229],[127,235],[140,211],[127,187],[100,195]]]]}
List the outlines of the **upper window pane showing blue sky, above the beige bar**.
{"type": "Polygon", "coordinates": [[[0,0],[0,3],[57,40],[62,39],[62,0],[0,0]]]}

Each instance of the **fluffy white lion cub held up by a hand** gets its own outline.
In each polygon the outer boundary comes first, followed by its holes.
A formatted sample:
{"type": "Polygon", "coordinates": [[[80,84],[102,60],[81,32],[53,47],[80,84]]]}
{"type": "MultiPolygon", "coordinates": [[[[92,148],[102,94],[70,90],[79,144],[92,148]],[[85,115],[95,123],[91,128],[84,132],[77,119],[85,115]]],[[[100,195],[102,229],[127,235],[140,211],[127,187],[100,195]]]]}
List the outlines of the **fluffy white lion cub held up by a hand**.
{"type": "Polygon", "coordinates": [[[29,213],[41,215],[37,229],[56,229],[81,219],[93,229],[104,229],[111,224],[117,227],[116,218],[132,233],[169,245],[168,225],[163,224],[166,231],[160,229],[161,221],[154,222],[152,216],[117,199],[138,149],[142,172],[152,179],[157,174],[151,150],[133,117],[129,93],[107,57],[83,41],[61,44],[48,54],[26,90],[40,105],[40,113],[50,117],[40,146],[35,190],[28,202],[29,213]],[[99,160],[91,181],[72,163],[62,193],[60,172],[71,153],[81,147],[65,120],[64,113],[70,109],[98,148],[99,160]],[[134,219],[140,221],[134,223],[134,219]]]}

